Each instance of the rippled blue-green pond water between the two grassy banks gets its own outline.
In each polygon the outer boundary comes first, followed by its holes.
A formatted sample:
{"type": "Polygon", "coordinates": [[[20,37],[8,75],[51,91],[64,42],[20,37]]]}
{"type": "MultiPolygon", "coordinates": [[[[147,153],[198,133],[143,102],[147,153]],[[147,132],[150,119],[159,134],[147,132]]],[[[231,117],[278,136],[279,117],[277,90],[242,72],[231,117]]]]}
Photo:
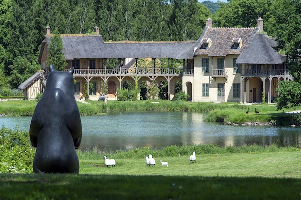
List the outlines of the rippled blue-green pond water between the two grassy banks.
{"type": "MultiPolygon", "coordinates": [[[[301,147],[301,128],[277,126],[229,126],[204,122],[206,114],[193,112],[118,112],[81,117],[81,150],[161,149],[169,145],[243,144],[301,147]]],[[[28,131],[31,117],[0,117],[0,124],[28,131]]]]}

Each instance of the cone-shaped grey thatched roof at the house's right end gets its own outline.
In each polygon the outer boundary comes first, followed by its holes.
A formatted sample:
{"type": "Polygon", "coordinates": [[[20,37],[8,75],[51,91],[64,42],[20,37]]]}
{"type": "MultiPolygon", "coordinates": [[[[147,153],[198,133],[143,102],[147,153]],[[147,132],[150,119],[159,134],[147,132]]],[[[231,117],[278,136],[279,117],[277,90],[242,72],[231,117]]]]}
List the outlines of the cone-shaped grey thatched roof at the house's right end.
{"type": "Polygon", "coordinates": [[[255,34],[246,49],[242,50],[236,63],[281,64],[283,58],[271,47],[265,34],[255,34]]]}

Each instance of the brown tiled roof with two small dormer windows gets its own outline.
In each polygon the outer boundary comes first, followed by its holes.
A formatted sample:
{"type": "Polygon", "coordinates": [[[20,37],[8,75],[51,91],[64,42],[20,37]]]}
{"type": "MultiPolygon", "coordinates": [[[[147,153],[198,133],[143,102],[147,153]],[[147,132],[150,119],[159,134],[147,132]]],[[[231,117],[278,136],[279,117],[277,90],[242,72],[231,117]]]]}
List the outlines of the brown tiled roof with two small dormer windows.
{"type": "Polygon", "coordinates": [[[194,55],[226,56],[227,54],[240,54],[247,46],[252,36],[259,30],[256,28],[212,28],[204,29],[198,39],[198,48],[194,55]],[[212,44],[209,48],[202,49],[205,39],[210,38],[212,44]],[[233,39],[241,38],[242,47],[233,49],[233,39]]]}

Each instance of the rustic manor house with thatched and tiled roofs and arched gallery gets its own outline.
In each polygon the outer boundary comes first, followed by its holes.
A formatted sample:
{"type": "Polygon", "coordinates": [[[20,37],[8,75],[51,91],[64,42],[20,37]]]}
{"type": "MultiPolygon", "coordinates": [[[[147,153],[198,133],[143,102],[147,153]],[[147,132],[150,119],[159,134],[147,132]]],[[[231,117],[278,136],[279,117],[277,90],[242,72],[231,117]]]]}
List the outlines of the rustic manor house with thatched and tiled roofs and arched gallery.
{"type": "MultiPolygon", "coordinates": [[[[240,102],[271,103],[277,97],[275,89],[280,80],[290,80],[284,55],[275,50],[276,42],[263,33],[263,20],[257,20],[253,28],[215,28],[212,20],[206,20],[206,27],[197,41],[185,42],[104,42],[95,27],[95,35],[61,35],[66,71],[74,67],[76,98],[85,90],[92,100],[98,100],[106,83],[109,100],[117,99],[117,88],[125,81],[138,86],[142,81],[166,81],[168,99],[175,95],[175,84],[182,81],[182,90],[189,94],[189,101],[195,102],[240,102]],[[141,68],[138,59],[152,60],[152,68],[141,68]],[[167,58],[168,67],[156,66],[156,59],[167,58]],[[118,59],[118,66],[108,68],[106,59],[118,59]],[[174,67],[173,61],[181,59],[182,67],[174,67]],[[93,85],[90,89],[89,85],[93,85]]],[[[48,44],[50,28],[46,28],[42,41],[39,62],[41,80],[47,76],[48,44]]],[[[38,75],[22,83],[26,98],[34,98],[30,88],[38,75]]],[[[36,81],[35,81],[36,80],[36,81]]],[[[36,87],[38,92],[43,91],[36,87]]],[[[37,85],[37,84],[36,84],[37,85]]]]}

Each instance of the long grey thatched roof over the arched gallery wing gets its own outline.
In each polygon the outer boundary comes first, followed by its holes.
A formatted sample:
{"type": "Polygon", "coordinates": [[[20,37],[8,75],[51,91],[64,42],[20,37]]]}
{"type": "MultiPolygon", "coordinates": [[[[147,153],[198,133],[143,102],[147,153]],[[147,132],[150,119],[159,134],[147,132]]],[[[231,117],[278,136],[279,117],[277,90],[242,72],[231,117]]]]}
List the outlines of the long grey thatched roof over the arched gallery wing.
{"type": "MultiPolygon", "coordinates": [[[[50,42],[50,35],[46,42],[50,42]]],[[[104,42],[101,35],[61,35],[66,60],[79,58],[193,58],[196,41],[104,42]]]]}

